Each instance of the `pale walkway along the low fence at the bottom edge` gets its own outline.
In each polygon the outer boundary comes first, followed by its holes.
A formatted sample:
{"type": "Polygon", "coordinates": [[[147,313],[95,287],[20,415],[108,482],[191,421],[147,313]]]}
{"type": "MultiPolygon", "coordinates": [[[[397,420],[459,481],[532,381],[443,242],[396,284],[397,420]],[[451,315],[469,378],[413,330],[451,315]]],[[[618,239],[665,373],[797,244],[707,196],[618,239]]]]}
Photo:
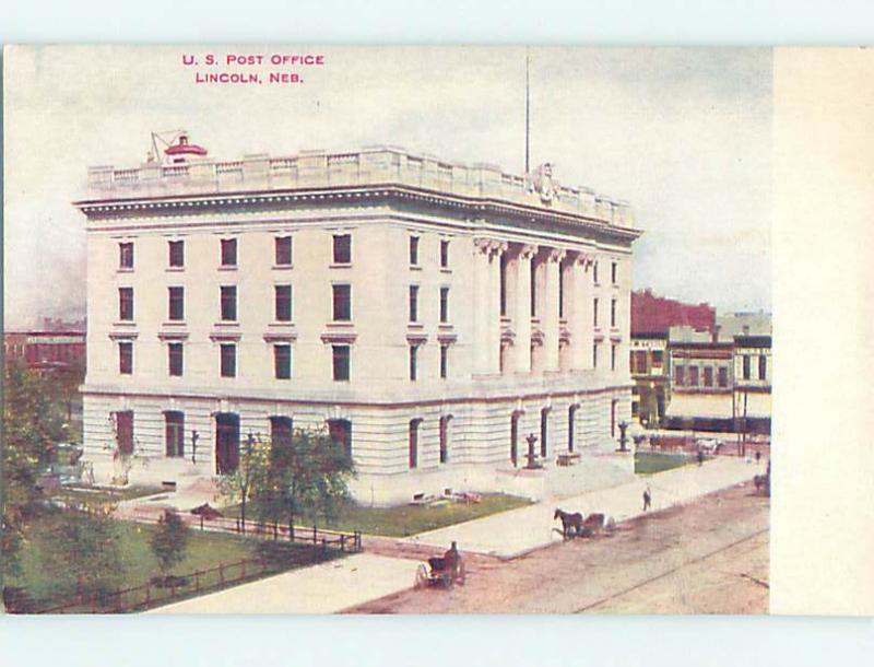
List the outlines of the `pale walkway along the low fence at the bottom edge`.
{"type": "Polygon", "coordinates": [[[414,561],[358,553],[147,613],[334,613],[410,588],[415,566],[414,561]]]}

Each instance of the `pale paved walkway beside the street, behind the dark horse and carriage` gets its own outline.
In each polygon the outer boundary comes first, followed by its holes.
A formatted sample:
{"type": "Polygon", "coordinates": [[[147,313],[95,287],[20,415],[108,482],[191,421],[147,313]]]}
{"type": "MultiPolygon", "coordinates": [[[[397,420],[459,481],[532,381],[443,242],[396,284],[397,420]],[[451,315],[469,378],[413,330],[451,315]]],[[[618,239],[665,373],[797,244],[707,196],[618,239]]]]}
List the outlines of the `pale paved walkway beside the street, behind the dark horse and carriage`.
{"type": "Polygon", "coordinates": [[[515,558],[551,542],[562,541],[560,533],[555,530],[562,524],[553,519],[556,507],[583,514],[603,512],[618,523],[642,514],[642,494],[647,485],[651,489],[652,510],[656,511],[748,481],[754,475],[764,472],[764,459],[757,466],[735,457],[720,457],[708,460],[704,466],[693,464],[674,468],[609,489],[560,500],[546,499],[529,507],[423,533],[406,541],[445,549],[454,540],[461,551],[515,558]]]}

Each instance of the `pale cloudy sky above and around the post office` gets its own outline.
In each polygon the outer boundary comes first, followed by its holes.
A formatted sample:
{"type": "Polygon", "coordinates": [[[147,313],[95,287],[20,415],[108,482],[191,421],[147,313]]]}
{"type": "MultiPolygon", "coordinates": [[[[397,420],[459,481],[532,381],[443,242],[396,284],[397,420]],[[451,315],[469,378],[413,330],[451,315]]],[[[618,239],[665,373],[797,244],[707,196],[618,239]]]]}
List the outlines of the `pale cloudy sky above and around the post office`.
{"type": "MultiPolygon", "coordinates": [[[[630,201],[636,286],[770,309],[771,51],[532,48],[532,164],[630,201]]],[[[8,52],[7,326],[82,311],[86,168],[150,131],[217,159],[392,143],[521,173],[522,48],[43,47],[8,52]],[[184,52],[323,52],[299,86],[204,86],[184,52]]],[[[260,71],[265,72],[268,67],[260,71]]]]}

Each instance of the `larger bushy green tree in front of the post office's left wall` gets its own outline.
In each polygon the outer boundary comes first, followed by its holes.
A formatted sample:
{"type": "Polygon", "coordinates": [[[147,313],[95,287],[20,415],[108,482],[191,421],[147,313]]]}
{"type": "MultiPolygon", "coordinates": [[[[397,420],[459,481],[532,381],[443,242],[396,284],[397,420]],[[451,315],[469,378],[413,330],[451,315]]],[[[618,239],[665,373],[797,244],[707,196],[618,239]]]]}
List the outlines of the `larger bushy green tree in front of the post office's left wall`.
{"type": "Polygon", "coordinates": [[[261,520],[335,518],[351,500],[349,481],[355,475],[352,457],[342,443],[323,431],[296,429],[291,442],[274,443],[268,475],[259,487],[261,520]]]}

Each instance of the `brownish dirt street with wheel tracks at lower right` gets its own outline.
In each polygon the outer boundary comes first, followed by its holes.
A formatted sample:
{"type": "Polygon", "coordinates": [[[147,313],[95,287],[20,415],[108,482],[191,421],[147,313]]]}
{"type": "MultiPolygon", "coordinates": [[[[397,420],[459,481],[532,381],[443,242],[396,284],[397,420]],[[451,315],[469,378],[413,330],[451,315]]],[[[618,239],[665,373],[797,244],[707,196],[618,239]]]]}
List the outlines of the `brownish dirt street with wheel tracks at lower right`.
{"type": "MultiPolygon", "coordinates": [[[[509,561],[465,557],[464,586],[411,588],[347,612],[763,613],[768,514],[768,499],[742,484],[629,520],[612,536],[509,561]]],[[[412,585],[415,555],[395,555],[411,559],[412,585]]]]}

